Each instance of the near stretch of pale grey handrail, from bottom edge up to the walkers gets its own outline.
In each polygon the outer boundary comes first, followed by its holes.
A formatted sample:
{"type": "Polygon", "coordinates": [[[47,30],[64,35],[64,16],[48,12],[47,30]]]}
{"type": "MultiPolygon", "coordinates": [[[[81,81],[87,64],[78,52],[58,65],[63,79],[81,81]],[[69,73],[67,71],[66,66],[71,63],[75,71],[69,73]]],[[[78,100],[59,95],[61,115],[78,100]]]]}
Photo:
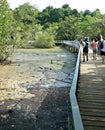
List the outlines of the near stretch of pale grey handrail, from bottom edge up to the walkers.
{"type": "Polygon", "coordinates": [[[79,68],[80,68],[80,52],[81,50],[79,49],[74,78],[70,89],[70,103],[71,103],[74,130],[84,130],[77,99],[76,99],[76,87],[77,87],[77,80],[78,80],[79,68]]]}

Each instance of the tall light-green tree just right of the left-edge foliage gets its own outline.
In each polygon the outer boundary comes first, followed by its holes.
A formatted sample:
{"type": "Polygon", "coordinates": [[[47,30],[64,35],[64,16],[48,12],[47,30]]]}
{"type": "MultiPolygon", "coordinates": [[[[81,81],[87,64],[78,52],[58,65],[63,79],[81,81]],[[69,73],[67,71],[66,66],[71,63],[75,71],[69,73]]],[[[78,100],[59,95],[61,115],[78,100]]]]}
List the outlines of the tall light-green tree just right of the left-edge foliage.
{"type": "Polygon", "coordinates": [[[25,3],[13,11],[14,22],[12,35],[15,37],[17,47],[27,47],[29,40],[34,40],[38,30],[38,9],[29,3],[25,3]]]}

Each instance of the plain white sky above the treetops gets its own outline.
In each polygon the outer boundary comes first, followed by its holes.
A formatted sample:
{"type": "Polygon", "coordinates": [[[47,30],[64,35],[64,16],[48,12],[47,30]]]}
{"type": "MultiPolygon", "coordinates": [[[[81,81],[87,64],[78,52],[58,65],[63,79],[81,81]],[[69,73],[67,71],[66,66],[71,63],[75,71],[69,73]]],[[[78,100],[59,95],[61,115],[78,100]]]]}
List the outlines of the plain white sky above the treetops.
{"type": "Polygon", "coordinates": [[[105,0],[7,0],[12,9],[29,2],[31,5],[35,5],[38,10],[42,11],[47,6],[53,6],[54,8],[62,7],[64,4],[69,4],[71,9],[77,9],[78,11],[85,11],[89,9],[94,11],[97,8],[100,9],[102,14],[105,14],[105,0]]]}

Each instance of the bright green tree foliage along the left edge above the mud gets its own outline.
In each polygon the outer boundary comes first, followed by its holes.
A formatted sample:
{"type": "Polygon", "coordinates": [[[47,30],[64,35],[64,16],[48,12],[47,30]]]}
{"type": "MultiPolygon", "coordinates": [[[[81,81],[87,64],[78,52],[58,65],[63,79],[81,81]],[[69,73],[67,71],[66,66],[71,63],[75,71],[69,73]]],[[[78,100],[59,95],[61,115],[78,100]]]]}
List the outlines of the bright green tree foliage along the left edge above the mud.
{"type": "Polygon", "coordinates": [[[7,45],[11,11],[7,0],[0,1],[0,61],[8,58],[10,51],[7,45]]]}

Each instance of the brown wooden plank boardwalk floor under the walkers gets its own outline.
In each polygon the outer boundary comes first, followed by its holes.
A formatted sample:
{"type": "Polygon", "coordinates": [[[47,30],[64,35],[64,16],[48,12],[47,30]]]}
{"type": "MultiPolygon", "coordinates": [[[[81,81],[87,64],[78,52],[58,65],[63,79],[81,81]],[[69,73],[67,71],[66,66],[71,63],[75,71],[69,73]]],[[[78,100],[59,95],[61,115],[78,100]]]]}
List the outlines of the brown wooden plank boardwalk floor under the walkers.
{"type": "Polygon", "coordinates": [[[80,65],[77,99],[84,130],[105,130],[105,63],[100,55],[80,65]]]}

